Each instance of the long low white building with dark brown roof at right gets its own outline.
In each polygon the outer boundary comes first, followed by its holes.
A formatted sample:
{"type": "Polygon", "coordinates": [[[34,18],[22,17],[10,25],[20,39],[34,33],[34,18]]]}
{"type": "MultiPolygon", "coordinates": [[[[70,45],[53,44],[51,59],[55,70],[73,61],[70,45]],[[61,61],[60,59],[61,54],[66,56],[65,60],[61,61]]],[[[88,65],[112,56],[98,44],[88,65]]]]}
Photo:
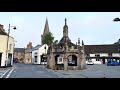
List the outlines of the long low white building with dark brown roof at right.
{"type": "Polygon", "coordinates": [[[86,63],[107,64],[109,59],[120,62],[119,41],[114,44],[85,45],[86,63]]]}

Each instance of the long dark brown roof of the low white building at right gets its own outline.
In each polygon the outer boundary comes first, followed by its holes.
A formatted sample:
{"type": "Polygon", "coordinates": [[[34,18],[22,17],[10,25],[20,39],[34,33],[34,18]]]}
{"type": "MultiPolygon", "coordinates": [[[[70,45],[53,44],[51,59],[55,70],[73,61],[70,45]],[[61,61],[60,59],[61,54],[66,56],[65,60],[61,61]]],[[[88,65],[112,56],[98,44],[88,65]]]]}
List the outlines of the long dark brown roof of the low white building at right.
{"type": "Polygon", "coordinates": [[[120,45],[84,45],[85,53],[120,53],[120,45]]]}

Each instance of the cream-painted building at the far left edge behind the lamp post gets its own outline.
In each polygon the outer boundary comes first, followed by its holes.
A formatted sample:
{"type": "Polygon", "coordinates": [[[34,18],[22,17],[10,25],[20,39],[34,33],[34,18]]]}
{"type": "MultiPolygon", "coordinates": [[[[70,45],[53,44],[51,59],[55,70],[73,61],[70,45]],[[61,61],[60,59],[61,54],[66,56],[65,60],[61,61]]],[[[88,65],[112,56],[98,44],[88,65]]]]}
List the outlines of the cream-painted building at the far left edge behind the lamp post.
{"type": "Polygon", "coordinates": [[[8,36],[4,25],[0,24],[0,67],[13,65],[14,38],[8,36]]]}

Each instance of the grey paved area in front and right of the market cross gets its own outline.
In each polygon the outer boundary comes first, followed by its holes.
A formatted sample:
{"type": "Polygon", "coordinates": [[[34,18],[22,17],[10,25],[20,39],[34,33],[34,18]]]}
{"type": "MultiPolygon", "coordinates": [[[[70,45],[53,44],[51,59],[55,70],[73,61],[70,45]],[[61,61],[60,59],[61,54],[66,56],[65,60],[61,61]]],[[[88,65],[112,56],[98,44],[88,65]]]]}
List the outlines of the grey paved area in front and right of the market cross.
{"type": "Polygon", "coordinates": [[[63,78],[120,78],[120,66],[87,65],[85,70],[55,70],[63,78]]]}

